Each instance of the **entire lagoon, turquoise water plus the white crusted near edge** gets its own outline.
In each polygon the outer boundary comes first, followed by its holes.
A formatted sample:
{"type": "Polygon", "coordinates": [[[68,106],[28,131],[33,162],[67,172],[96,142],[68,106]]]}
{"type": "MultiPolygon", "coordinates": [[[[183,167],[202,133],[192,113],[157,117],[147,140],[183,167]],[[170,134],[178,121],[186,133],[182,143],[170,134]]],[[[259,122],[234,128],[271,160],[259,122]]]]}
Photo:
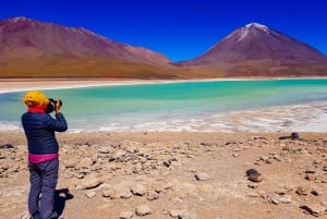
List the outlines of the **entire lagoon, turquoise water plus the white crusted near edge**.
{"type": "MultiPolygon", "coordinates": [[[[44,92],[63,101],[71,132],[284,131],[324,118],[327,80],[199,81],[44,92]]],[[[0,130],[21,130],[24,94],[0,94],[0,130]]]]}

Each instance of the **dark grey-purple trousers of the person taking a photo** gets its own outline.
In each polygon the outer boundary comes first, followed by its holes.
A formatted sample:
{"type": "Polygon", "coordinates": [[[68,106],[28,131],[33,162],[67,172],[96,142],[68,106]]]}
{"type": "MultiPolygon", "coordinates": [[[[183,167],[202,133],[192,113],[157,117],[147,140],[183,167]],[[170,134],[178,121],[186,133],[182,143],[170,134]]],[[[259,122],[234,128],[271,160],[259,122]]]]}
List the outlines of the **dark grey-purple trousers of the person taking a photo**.
{"type": "Polygon", "coordinates": [[[28,163],[31,190],[28,210],[35,218],[48,219],[55,212],[55,192],[58,181],[59,160],[28,163]]]}

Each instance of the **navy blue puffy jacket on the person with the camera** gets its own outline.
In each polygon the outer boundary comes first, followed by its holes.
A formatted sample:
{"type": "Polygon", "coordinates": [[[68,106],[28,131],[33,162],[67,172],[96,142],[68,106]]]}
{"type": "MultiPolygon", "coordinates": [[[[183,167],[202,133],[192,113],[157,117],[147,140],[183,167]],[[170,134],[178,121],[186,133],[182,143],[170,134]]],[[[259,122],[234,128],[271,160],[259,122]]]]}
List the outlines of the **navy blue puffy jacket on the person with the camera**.
{"type": "Polygon", "coordinates": [[[58,112],[56,119],[48,113],[25,112],[22,124],[28,144],[28,153],[34,155],[57,154],[59,149],[55,132],[68,130],[66,121],[58,112]]]}

